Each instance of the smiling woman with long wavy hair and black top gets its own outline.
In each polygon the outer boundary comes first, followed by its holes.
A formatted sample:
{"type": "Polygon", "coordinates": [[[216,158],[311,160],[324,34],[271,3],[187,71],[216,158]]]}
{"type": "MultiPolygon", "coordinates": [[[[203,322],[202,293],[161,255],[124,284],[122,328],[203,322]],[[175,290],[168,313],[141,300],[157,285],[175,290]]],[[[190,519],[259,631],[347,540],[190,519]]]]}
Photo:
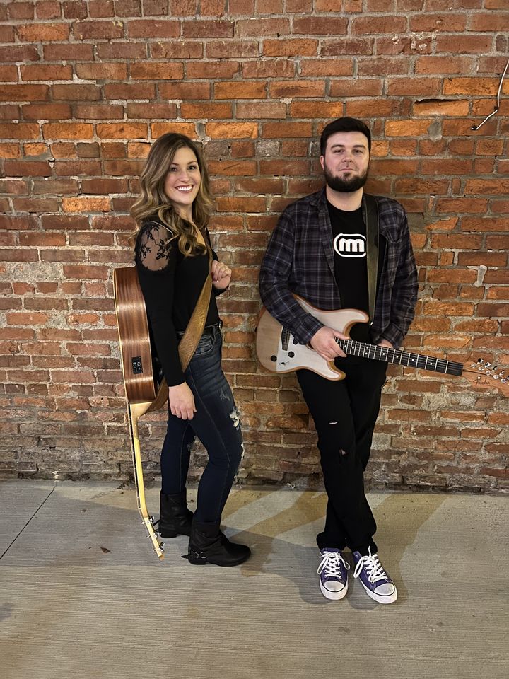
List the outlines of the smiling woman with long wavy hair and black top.
{"type": "Polygon", "coordinates": [[[250,556],[220,530],[221,513],[242,458],[242,433],[230,386],[221,369],[221,321],[216,295],[228,288],[230,269],[212,253],[212,291],[203,335],[182,372],[180,337],[209,276],[212,199],[198,146],[182,134],[163,134],[141,173],[136,220],[136,267],[156,352],[168,383],[168,431],[161,452],[159,531],[189,535],[192,564],[235,566],[250,556]],[[187,509],[189,453],[198,436],[209,460],[194,516],[187,509]]]}

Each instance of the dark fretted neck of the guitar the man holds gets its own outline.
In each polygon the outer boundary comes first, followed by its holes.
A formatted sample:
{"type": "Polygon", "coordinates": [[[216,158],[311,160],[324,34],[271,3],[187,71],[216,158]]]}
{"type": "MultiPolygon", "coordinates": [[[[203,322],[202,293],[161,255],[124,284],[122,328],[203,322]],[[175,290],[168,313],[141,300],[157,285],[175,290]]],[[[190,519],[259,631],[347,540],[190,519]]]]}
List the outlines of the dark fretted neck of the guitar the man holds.
{"type": "Polygon", "coordinates": [[[409,366],[410,368],[421,368],[422,370],[431,370],[434,373],[445,373],[447,375],[460,376],[463,371],[462,363],[447,361],[447,359],[437,359],[435,356],[402,352],[399,349],[378,347],[375,344],[366,344],[356,340],[341,340],[339,337],[336,338],[336,342],[345,354],[350,354],[351,356],[363,356],[366,359],[386,361],[387,363],[409,366]]]}

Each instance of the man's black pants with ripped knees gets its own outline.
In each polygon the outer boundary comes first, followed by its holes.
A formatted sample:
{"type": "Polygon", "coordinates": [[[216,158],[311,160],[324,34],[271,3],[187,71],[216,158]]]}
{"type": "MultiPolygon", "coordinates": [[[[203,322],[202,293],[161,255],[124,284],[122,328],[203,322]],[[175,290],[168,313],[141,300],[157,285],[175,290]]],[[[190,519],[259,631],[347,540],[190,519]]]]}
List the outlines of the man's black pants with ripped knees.
{"type": "Polygon", "coordinates": [[[370,457],[373,429],[385,382],[384,361],[337,359],[346,373],[341,381],[326,380],[309,370],[297,373],[318,434],[318,449],[327,491],[325,528],[318,547],[377,551],[375,518],[364,493],[364,470],[370,457]]]}

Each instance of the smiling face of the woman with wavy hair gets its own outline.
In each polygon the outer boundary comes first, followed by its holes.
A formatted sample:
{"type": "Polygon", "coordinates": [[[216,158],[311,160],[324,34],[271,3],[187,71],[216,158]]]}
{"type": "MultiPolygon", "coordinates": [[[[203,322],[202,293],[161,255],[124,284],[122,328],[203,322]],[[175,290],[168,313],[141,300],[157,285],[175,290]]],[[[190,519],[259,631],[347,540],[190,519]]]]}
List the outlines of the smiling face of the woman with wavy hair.
{"type": "Polygon", "coordinates": [[[187,146],[181,146],[173,156],[165,179],[165,194],[182,216],[191,219],[192,204],[201,182],[197,157],[187,146]]]}

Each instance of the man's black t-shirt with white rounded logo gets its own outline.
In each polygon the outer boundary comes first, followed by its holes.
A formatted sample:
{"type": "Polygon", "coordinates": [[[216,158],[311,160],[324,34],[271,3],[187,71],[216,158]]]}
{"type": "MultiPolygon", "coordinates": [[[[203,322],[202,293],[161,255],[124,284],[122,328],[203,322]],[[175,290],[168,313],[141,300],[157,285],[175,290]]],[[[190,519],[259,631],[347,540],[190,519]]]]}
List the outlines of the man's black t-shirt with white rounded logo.
{"type": "MultiPolygon", "coordinates": [[[[334,250],[334,275],[336,277],[341,306],[344,309],[360,309],[369,315],[368,258],[366,227],[362,207],[353,211],[340,210],[327,201],[332,227],[334,250]]],[[[385,254],[385,239],[378,243],[378,280],[385,254]]],[[[350,333],[353,340],[370,342],[368,323],[357,323],[350,333]]]]}

